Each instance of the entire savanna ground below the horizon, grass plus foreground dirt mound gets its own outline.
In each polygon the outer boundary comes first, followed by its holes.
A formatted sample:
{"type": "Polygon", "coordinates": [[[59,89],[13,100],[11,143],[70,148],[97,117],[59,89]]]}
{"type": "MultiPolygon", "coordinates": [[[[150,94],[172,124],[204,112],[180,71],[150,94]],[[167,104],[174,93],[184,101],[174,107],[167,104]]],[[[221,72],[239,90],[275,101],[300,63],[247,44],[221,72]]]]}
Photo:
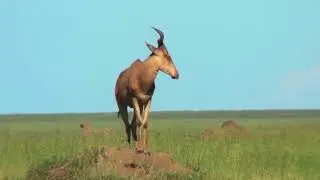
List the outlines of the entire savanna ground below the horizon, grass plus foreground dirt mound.
{"type": "Polygon", "coordinates": [[[320,111],[151,112],[149,121],[150,158],[185,171],[121,159],[130,149],[116,113],[1,115],[0,179],[320,179],[320,111]],[[227,120],[244,130],[225,130],[227,120]],[[84,122],[113,133],[84,136],[84,122]]]}

